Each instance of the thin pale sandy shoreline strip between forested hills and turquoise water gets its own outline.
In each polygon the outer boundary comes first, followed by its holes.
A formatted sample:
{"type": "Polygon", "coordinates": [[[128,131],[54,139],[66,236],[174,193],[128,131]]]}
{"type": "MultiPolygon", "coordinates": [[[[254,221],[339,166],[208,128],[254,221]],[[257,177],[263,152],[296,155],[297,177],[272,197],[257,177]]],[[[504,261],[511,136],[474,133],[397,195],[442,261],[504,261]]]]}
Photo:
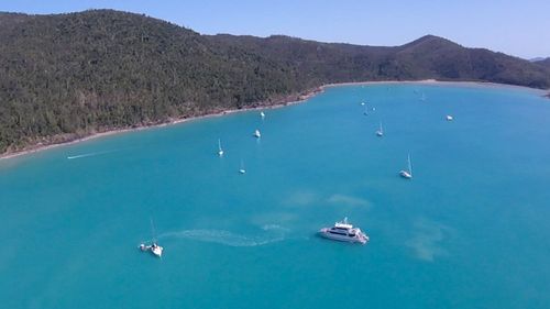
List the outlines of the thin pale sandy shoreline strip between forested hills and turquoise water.
{"type": "Polygon", "coordinates": [[[133,131],[140,131],[140,130],[147,130],[147,129],[155,129],[155,128],[162,128],[166,125],[173,125],[173,124],[178,124],[178,123],[184,123],[188,121],[195,121],[195,120],[201,120],[201,119],[207,119],[207,118],[213,118],[213,117],[222,117],[226,114],[231,114],[231,113],[238,113],[238,112],[246,112],[246,111],[253,111],[253,110],[264,110],[264,109],[278,109],[278,108],[284,108],[293,104],[299,104],[306,102],[308,99],[324,92],[324,89],[327,88],[332,88],[332,87],[342,87],[342,86],[367,86],[367,85],[384,85],[384,84],[420,84],[420,85],[457,85],[457,86],[475,86],[475,87],[505,87],[505,88],[514,88],[514,89],[525,89],[525,90],[531,90],[536,92],[543,92],[541,96],[546,98],[550,98],[550,93],[548,93],[548,90],[541,90],[541,89],[534,89],[525,86],[516,86],[516,85],[506,85],[506,84],[496,84],[496,82],[486,82],[486,81],[443,81],[443,80],[437,80],[437,79],[422,79],[422,80],[377,80],[377,81],[349,81],[349,82],[332,82],[332,84],[324,84],[322,86],[319,86],[315,89],[309,89],[306,90],[299,95],[289,95],[286,97],[286,99],[283,99],[283,101],[277,102],[272,106],[262,106],[261,103],[264,102],[258,102],[260,106],[254,106],[250,108],[242,108],[242,109],[229,109],[229,110],[221,110],[221,111],[216,111],[211,113],[206,113],[201,115],[195,115],[195,117],[187,117],[187,118],[179,118],[179,119],[174,119],[169,120],[166,122],[162,123],[154,123],[154,124],[141,124],[136,125],[135,128],[122,128],[122,129],[113,129],[109,130],[107,129],[106,131],[102,132],[97,132],[97,133],[90,133],[89,135],[81,136],[81,137],[76,137],[73,140],[67,140],[67,141],[62,141],[58,143],[50,143],[50,144],[34,144],[30,145],[26,148],[23,148],[21,151],[15,151],[13,153],[6,153],[6,154],[0,154],[0,161],[2,159],[8,159],[8,158],[13,158],[13,157],[19,157],[36,152],[42,152],[45,150],[54,148],[54,147],[59,147],[59,146],[65,146],[65,145],[72,145],[89,140],[95,140],[103,136],[109,136],[109,135],[114,135],[119,133],[125,133],[125,132],[133,132],[133,131]],[[290,99],[293,98],[293,99],[290,99]]]}

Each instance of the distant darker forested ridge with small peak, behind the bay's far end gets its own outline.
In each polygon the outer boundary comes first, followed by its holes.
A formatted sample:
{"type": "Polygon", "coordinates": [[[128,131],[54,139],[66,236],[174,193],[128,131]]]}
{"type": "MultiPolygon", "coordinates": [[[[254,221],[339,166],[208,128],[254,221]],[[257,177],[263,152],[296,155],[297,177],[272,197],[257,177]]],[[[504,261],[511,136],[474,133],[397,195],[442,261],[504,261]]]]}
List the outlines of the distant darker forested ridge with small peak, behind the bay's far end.
{"type": "Polygon", "coordinates": [[[300,77],[319,82],[433,78],[550,88],[549,67],[484,48],[465,48],[433,35],[394,47],[319,43],[280,35],[261,38],[219,34],[210,38],[289,63],[300,77]]]}

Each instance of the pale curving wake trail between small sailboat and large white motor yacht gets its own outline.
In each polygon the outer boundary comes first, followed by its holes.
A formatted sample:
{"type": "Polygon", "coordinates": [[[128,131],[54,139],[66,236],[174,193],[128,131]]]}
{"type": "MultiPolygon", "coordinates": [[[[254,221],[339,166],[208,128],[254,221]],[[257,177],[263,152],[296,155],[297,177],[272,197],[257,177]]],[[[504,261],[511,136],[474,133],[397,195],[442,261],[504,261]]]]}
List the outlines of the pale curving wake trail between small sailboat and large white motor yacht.
{"type": "Polygon", "coordinates": [[[188,239],[194,241],[219,243],[229,246],[258,246],[285,240],[285,230],[278,225],[270,224],[262,228],[271,235],[246,236],[224,230],[183,230],[167,232],[158,235],[158,239],[188,239]]]}

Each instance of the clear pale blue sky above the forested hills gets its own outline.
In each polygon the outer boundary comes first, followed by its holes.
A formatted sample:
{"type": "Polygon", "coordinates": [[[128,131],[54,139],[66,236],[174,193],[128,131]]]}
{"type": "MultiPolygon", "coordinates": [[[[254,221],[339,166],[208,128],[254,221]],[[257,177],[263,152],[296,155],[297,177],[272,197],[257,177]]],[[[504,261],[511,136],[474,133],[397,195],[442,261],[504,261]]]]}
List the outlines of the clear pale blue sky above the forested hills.
{"type": "Polygon", "coordinates": [[[1,1],[0,11],[61,13],[117,9],[199,33],[286,34],[322,42],[400,45],[425,34],[469,47],[532,58],[550,56],[550,0],[1,1]]]}

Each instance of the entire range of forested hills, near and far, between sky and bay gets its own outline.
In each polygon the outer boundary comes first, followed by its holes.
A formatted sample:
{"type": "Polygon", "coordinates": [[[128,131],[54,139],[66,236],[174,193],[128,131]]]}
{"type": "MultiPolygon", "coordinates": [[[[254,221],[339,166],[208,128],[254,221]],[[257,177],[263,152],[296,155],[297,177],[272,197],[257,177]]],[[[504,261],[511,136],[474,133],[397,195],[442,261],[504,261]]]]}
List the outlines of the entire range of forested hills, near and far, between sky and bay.
{"type": "Polygon", "coordinates": [[[425,36],[396,47],[200,35],[144,15],[0,13],[0,153],[274,104],[327,82],[486,80],[550,87],[550,68],[425,36]]]}

